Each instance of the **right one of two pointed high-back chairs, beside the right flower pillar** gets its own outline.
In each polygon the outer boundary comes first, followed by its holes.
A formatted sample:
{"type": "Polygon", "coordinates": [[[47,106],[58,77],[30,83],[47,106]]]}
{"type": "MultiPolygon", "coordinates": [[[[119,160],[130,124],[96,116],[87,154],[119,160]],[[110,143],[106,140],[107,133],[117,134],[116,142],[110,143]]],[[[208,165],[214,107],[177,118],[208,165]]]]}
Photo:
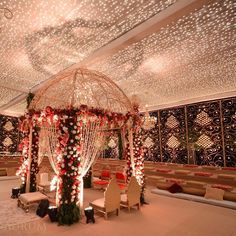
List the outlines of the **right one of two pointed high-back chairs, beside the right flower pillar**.
{"type": "Polygon", "coordinates": [[[130,212],[130,208],[132,206],[137,206],[137,209],[140,209],[140,194],[141,188],[134,176],[131,177],[130,183],[128,185],[127,193],[121,194],[121,202],[120,205],[123,207],[128,207],[130,212]]]}

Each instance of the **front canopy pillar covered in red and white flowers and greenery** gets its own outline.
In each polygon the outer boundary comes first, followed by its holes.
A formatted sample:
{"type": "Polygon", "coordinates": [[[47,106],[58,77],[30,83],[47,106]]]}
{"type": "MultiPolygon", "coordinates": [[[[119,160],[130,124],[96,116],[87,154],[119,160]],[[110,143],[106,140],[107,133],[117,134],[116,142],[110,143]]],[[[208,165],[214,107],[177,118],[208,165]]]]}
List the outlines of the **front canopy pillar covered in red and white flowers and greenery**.
{"type": "Polygon", "coordinates": [[[79,165],[78,150],[79,130],[76,113],[69,110],[61,115],[58,148],[58,220],[59,224],[73,224],[79,221],[79,208],[76,205],[79,195],[79,165]]]}

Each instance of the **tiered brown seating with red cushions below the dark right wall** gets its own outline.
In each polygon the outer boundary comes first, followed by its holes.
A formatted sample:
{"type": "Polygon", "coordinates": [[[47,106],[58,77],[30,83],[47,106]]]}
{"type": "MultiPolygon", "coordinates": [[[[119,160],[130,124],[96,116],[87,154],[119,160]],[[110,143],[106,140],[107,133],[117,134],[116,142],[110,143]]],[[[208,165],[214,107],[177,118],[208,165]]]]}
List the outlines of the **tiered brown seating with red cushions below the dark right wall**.
{"type": "Polygon", "coordinates": [[[204,196],[206,187],[224,190],[224,200],[236,201],[236,168],[145,163],[146,183],[166,190],[179,184],[184,193],[204,196]]]}

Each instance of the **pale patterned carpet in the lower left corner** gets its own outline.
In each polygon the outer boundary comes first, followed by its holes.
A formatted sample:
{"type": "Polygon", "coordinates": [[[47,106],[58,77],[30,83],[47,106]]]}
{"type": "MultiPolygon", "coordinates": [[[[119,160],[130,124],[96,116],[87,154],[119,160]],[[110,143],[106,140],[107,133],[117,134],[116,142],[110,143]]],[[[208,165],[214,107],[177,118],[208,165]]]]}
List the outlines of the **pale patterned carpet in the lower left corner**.
{"type": "Polygon", "coordinates": [[[41,219],[35,213],[36,208],[37,205],[33,205],[26,213],[22,208],[17,207],[16,199],[0,201],[0,230],[41,219]]]}

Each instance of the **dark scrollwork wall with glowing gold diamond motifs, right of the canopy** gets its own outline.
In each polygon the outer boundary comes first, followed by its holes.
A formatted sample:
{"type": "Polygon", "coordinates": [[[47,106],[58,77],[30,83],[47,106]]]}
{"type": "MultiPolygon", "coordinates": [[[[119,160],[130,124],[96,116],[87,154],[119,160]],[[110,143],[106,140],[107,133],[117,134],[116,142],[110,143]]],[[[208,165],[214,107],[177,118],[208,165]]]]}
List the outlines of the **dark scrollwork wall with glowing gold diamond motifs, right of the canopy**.
{"type": "Polygon", "coordinates": [[[144,131],[145,159],[236,166],[236,98],[153,111],[155,127],[144,131]]]}

